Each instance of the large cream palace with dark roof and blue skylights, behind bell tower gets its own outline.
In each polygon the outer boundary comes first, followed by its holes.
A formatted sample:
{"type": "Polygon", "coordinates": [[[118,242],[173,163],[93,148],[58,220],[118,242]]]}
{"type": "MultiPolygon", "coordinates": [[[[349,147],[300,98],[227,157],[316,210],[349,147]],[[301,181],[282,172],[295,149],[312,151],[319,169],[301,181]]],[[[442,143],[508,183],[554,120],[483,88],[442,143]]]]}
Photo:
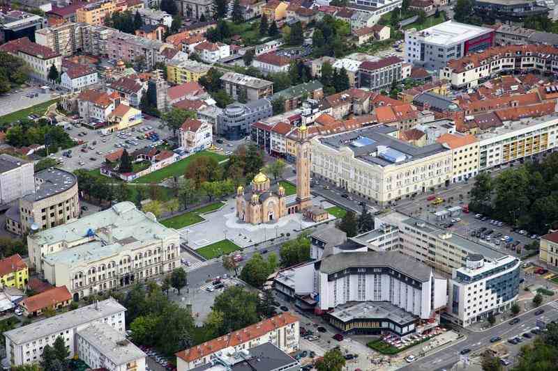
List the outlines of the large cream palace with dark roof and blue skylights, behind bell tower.
{"type": "Polygon", "coordinates": [[[416,147],[379,125],[312,139],[312,173],[379,205],[451,181],[451,151],[439,143],[416,147]]]}

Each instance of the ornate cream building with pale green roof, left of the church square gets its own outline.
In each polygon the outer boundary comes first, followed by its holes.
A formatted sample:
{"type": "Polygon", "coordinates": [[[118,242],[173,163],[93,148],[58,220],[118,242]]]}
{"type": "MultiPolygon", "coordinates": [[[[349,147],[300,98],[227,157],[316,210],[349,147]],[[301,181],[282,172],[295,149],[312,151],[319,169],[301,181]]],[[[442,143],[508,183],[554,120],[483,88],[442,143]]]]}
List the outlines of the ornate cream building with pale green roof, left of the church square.
{"type": "Polygon", "coordinates": [[[180,236],[130,202],[27,237],[29,260],[75,301],[169,274],[180,265],[180,236]]]}

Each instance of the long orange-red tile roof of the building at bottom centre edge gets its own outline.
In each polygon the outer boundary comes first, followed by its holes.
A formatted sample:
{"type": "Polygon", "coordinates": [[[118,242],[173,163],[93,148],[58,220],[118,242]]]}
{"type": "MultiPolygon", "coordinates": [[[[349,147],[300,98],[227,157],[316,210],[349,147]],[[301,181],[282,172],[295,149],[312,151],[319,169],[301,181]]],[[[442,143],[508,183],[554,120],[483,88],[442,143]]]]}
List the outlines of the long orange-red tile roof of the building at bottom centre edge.
{"type": "Polygon", "coordinates": [[[176,353],[176,356],[182,358],[186,362],[193,362],[199,358],[218,352],[221,349],[236,347],[236,345],[244,344],[252,339],[264,336],[270,331],[274,331],[280,327],[287,326],[287,324],[293,324],[298,321],[299,317],[296,317],[291,313],[281,313],[280,315],[264,319],[262,322],[252,324],[244,329],[227,333],[227,335],[206,341],[200,345],[196,345],[195,347],[184,349],[181,352],[176,353]]]}

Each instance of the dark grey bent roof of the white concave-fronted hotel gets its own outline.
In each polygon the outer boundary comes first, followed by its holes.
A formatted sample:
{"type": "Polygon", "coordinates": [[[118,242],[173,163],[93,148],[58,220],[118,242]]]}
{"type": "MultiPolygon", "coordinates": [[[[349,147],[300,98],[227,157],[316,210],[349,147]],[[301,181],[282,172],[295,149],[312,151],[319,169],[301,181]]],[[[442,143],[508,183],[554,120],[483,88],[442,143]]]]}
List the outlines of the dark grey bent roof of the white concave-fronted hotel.
{"type": "Polygon", "coordinates": [[[416,281],[430,280],[432,268],[398,251],[338,253],[322,259],[319,271],[333,274],[351,267],[390,267],[416,281]]]}

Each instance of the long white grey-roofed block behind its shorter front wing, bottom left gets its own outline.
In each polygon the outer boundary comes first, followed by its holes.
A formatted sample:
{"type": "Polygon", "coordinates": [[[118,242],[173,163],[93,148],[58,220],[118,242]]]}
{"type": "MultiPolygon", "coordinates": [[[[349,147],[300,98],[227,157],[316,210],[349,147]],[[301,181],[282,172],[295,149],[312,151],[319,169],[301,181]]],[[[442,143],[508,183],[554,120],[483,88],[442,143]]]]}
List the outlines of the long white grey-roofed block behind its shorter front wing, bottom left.
{"type": "Polygon", "coordinates": [[[124,333],[125,312],[126,308],[111,298],[6,331],[3,336],[8,363],[20,366],[40,362],[43,347],[52,347],[58,336],[62,336],[70,356],[79,355],[76,338],[80,330],[91,324],[105,323],[124,333]]]}

